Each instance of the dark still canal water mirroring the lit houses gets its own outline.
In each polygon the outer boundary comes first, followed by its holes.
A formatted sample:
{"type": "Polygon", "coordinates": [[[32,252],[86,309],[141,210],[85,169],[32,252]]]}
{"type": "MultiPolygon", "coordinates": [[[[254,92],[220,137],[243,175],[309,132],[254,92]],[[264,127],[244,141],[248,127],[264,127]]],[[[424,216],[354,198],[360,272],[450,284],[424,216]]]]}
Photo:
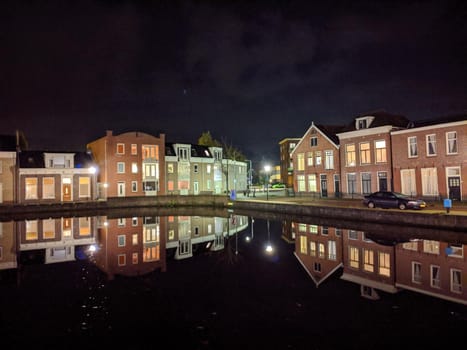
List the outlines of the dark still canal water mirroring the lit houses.
{"type": "Polygon", "coordinates": [[[312,218],[139,214],[2,222],[2,342],[433,348],[467,329],[458,233],[396,241],[394,227],[312,218]]]}

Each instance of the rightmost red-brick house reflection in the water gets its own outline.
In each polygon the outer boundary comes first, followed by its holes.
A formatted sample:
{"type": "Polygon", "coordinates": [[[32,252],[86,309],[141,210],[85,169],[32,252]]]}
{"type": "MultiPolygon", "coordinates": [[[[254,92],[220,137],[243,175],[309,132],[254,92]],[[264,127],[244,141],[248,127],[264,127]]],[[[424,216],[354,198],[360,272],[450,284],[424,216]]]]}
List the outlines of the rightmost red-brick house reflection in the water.
{"type": "Polygon", "coordinates": [[[415,240],[398,244],[396,255],[398,287],[467,304],[464,245],[415,240]]]}

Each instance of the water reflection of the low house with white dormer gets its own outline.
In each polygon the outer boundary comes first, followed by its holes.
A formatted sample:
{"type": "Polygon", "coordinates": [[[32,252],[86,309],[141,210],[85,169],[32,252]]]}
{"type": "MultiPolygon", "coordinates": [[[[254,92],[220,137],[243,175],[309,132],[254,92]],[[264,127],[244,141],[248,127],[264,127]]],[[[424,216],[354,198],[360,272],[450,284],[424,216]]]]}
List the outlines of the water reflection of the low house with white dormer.
{"type": "Polygon", "coordinates": [[[24,220],[15,223],[21,261],[44,263],[75,260],[75,249],[95,244],[96,218],[70,217],[24,220]]]}

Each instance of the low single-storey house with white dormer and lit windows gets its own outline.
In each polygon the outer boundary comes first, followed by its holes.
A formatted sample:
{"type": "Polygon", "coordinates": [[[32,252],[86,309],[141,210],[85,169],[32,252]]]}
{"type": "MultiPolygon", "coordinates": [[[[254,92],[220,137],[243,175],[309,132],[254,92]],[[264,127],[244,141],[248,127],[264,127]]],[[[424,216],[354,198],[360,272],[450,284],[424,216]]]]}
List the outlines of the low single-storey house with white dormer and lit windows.
{"type": "Polygon", "coordinates": [[[18,203],[96,198],[96,167],[89,153],[21,151],[18,159],[18,203]]]}

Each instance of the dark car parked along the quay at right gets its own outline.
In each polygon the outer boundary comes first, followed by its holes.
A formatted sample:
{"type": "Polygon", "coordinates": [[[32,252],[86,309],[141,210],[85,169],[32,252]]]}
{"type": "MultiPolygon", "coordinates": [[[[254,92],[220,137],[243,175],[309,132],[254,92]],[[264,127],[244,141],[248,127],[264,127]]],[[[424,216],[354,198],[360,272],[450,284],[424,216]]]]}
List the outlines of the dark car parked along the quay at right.
{"type": "Polygon", "coordinates": [[[364,196],[363,204],[368,208],[422,209],[426,207],[423,199],[412,198],[406,194],[392,191],[377,191],[364,196]]]}

